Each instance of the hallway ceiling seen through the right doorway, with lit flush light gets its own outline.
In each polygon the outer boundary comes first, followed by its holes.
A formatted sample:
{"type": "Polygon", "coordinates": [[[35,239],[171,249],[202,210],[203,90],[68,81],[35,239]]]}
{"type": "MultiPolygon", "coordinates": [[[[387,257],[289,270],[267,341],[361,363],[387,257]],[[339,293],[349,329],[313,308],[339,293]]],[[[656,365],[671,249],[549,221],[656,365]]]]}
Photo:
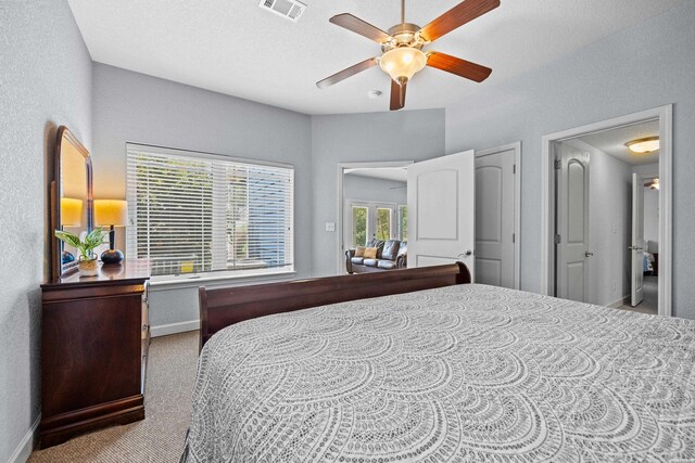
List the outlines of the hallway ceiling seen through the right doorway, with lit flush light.
{"type": "Polygon", "coordinates": [[[623,163],[632,166],[644,164],[653,164],[659,162],[659,152],[652,154],[633,154],[628,150],[626,143],[632,140],[656,137],[659,134],[659,121],[650,120],[648,123],[635,124],[632,126],[621,127],[619,129],[606,130],[598,133],[592,133],[581,138],[585,143],[591,144],[597,150],[609,154],[623,163]]]}

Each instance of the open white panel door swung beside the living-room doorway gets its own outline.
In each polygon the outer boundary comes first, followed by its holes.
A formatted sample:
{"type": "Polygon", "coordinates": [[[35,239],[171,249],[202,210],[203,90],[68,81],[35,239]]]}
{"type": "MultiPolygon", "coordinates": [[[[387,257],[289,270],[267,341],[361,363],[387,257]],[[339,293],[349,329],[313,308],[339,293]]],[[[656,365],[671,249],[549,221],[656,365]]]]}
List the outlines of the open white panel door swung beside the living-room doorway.
{"type": "Polygon", "coordinates": [[[475,167],[472,150],[408,166],[408,267],[460,260],[475,278],[475,167]]]}

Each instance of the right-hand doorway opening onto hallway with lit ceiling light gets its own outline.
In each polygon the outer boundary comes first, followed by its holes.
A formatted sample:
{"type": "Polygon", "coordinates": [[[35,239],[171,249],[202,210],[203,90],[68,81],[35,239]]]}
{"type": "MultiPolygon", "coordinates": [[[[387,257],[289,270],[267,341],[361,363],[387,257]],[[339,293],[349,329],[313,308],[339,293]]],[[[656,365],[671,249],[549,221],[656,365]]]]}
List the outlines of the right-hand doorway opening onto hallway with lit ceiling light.
{"type": "Polygon", "coordinates": [[[544,137],[545,294],[671,314],[670,120],[664,106],[544,137]]]}

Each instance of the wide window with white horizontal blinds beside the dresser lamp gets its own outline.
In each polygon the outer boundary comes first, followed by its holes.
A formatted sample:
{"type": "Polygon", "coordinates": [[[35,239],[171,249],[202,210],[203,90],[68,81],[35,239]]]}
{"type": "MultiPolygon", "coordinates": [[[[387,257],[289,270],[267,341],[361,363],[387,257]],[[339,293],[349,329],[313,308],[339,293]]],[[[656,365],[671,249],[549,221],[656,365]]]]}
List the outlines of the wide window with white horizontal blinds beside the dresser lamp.
{"type": "Polygon", "coordinates": [[[293,268],[291,166],[126,145],[128,256],[152,274],[293,268]]]}

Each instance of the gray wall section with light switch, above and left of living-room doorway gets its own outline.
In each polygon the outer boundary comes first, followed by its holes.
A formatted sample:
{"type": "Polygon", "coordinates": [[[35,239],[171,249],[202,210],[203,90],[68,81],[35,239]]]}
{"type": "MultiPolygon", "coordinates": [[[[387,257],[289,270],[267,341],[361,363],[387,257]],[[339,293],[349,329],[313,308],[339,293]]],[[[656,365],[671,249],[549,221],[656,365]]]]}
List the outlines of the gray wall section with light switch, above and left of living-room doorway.
{"type": "Polygon", "coordinates": [[[338,272],[338,165],[349,162],[424,160],[444,154],[444,111],[312,117],[313,273],[338,272]]]}

